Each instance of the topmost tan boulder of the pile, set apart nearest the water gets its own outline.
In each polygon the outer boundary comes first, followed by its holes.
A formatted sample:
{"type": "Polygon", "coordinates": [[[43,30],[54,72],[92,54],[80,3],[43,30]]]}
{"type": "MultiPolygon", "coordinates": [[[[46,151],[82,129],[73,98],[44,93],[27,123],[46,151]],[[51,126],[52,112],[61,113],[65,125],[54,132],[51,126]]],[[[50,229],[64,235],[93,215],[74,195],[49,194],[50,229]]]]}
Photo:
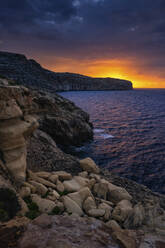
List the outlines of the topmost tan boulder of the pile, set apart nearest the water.
{"type": "Polygon", "coordinates": [[[80,166],[84,171],[99,174],[100,169],[91,158],[80,160],[80,166]]]}

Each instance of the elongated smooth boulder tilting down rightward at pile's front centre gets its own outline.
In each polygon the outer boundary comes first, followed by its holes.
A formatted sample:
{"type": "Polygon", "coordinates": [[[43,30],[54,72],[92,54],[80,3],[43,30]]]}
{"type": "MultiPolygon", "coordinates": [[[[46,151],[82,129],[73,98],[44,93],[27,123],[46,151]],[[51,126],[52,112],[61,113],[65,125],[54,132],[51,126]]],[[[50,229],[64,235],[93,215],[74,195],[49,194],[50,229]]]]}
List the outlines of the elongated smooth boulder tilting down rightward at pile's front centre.
{"type": "Polygon", "coordinates": [[[71,213],[76,213],[79,216],[83,215],[82,209],[79,207],[79,205],[73,201],[70,197],[68,196],[63,196],[62,197],[63,204],[66,208],[66,211],[71,214],[71,213]]]}

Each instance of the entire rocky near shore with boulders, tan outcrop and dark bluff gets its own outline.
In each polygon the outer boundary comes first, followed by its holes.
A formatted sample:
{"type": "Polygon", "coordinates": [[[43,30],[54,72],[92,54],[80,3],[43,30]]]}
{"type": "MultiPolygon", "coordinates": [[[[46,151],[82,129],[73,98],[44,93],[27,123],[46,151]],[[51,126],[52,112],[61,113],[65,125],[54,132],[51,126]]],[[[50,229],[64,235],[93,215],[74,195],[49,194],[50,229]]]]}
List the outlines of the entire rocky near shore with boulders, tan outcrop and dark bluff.
{"type": "Polygon", "coordinates": [[[163,195],[58,146],[91,138],[70,101],[0,80],[1,248],[165,247],[163,195]]]}

